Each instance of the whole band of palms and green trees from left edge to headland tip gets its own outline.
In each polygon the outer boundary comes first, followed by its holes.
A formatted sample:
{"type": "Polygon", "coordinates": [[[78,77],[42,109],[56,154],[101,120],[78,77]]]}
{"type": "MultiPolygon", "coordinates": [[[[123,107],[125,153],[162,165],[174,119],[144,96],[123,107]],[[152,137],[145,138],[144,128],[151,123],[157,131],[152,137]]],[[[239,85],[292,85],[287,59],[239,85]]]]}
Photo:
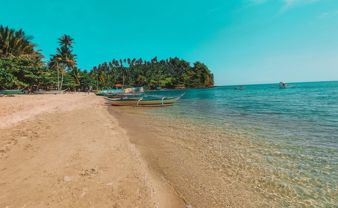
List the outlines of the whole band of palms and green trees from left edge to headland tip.
{"type": "Polygon", "coordinates": [[[94,66],[91,70],[77,67],[73,53],[74,39],[63,35],[58,47],[45,62],[42,50],[33,43],[33,37],[22,29],[0,25],[0,86],[14,89],[25,86],[111,89],[115,84],[125,87],[148,86],[162,88],[202,88],[214,86],[214,77],[208,67],[178,57],[158,61],[140,59],[113,59],[94,66]]]}

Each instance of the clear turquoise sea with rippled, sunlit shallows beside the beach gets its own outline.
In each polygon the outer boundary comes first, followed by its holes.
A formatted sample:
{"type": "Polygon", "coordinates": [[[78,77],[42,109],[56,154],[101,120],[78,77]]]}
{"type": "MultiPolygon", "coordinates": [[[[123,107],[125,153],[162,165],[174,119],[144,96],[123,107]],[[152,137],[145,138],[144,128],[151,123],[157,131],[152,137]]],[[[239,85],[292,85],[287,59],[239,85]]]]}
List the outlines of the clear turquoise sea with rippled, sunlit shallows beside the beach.
{"type": "Polygon", "coordinates": [[[225,171],[224,181],[282,207],[337,207],[338,81],[289,84],[297,87],[147,92],[186,94],[143,116],[159,138],[195,152],[209,170],[225,171]]]}

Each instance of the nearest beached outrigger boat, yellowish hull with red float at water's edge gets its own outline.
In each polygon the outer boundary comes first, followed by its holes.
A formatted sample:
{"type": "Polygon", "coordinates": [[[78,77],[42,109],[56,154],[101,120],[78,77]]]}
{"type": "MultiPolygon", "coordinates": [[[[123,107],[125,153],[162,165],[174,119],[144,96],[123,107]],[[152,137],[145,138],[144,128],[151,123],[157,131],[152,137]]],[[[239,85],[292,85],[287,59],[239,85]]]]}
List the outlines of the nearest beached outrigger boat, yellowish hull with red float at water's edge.
{"type": "Polygon", "coordinates": [[[120,99],[109,99],[106,102],[112,106],[134,106],[134,107],[164,107],[164,106],[173,106],[179,98],[181,98],[185,93],[182,95],[174,96],[174,97],[154,97],[154,96],[144,96],[142,98],[120,98],[120,99]],[[156,105],[161,104],[161,105],[156,105]],[[165,105],[166,104],[166,105],[165,105]]]}

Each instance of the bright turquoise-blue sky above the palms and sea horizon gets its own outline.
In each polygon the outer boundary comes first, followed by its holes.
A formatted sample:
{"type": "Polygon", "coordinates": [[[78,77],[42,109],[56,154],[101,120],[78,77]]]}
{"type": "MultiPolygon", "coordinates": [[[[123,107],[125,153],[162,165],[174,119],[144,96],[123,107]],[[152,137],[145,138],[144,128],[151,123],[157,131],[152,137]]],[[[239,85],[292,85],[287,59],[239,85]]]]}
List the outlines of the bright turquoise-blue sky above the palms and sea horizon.
{"type": "Polygon", "coordinates": [[[78,67],[113,58],[205,63],[216,85],[338,80],[337,0],[5,1],[0,24],[44,54],[63,34],[78,67]]]}

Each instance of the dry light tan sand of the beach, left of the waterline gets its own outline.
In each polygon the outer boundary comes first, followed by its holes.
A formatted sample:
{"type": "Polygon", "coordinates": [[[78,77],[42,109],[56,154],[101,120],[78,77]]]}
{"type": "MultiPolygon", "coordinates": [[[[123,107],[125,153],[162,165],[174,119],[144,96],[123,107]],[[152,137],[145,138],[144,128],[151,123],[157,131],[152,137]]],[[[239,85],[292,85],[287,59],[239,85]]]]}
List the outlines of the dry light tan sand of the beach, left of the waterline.
{"type": "Polygon", "coordinates": [[[84,95],[0,97],[0,207],[185,207],[84,95]]]}

